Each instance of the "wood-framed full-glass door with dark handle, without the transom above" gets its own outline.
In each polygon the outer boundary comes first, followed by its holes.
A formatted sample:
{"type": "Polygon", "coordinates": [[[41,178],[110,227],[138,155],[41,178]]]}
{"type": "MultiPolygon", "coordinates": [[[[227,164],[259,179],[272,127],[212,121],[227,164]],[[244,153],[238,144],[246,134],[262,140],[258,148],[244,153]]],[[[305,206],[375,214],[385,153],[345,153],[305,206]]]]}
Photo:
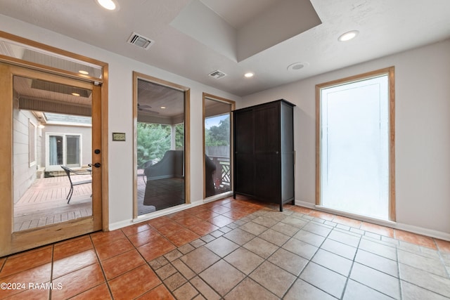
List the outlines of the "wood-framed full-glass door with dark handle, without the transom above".
{"type": "Polygon", "coordinates": [[[101,229],[100,86],[0,69],[0,256],[101,229]]]}

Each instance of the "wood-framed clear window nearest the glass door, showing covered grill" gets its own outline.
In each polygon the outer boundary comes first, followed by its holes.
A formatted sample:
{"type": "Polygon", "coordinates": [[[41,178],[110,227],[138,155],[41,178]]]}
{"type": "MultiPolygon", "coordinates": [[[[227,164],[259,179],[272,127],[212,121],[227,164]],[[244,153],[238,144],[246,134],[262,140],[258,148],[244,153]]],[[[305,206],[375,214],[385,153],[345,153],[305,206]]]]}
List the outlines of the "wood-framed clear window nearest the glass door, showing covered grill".
{"type": "Polygon", "coordinates": [[[145,218],[189,203],[189,89],[137,72],[133,77],[134,217],[145,218]]]}

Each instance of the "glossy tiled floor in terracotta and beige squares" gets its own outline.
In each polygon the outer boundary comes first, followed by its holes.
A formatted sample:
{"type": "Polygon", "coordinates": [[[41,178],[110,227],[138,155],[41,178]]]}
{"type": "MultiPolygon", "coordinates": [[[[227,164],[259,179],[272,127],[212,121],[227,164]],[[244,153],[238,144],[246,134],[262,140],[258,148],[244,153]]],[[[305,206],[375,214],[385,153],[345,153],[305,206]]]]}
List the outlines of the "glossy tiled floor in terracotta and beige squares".
{"type": "Polygon", "coordinates": [[[26,285],[0,299],[450,299],[450,242],[277,208],[226,198],[0,258],[26,285]]]}

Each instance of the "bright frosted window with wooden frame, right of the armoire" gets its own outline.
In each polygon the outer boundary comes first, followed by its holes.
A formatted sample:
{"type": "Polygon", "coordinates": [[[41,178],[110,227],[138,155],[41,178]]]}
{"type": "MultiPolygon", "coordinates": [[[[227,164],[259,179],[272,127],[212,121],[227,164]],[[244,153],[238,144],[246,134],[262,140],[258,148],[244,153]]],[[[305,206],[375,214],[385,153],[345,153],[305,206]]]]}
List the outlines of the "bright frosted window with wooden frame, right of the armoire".
{"type": "Polygon", "coordinates": [[[394,68],[316,86],[316,204],[394,220],[394,68]]]}

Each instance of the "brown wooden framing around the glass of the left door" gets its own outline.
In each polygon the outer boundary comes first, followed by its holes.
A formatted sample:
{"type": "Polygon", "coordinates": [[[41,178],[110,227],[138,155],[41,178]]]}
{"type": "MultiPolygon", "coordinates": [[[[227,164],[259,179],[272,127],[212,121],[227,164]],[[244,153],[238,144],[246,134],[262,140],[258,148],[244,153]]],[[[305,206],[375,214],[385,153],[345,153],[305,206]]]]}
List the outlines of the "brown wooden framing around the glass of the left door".
{"type": "MultiPolygon", "coordinates": [[[[18,67],[23,67],[23,70],[26,70],[23,72],[25,76],[30,74],[37,74],[37,72],[39,72],[39,76],[45,74],[44,77],[50,80],[54,79],[58,82],[64,82],[76,79],[81,85],[83,85],[83,81],[86,85],[91,85],[90,89],[94,91],[93,94],[94,97],[96,97],[95,99],[93,98],[93,103],[94,101],[98,103],[98,105],[93,105],[92,107],[92,126],[96,126],[96,128],[99,128],[99,134],[93,135],[94,138],[92,141],[92,148],[93,151],[96,148],[101,149],[101,159],[98,159],[99,161],[95,161],[101,163],[101,168],[96,168],[93,170],[93,173],[97,173],[97,182],[100,185],[97,189],[94,189],[97,190],[97,195],[93,195],[93,197],[96,197],[98,199],[98,205],[93,207],[93,215],[98,214],[99,217],[95,219],[95,221],[93,221],[94,218],[92,220],[82,219],[82,228],[91,228],[89,229],[90,231],[108,230],[108,64],[103,63],[99,60],[79,56],[78,54],[71,53],[69,51],[64,51],[52,46],[40,44],[36,41],[18,37],[13,34],[8,34],[7,32],[0,31],[0,37],[23,44],[23,46],[25,47],[42,49],[44,51],[50,52],[54,56],[64,56],[68,58],[68,60],[81,60],[82,62],[85,62],[86,65],[97,65],[98,67],[101,67],[101,78],[96,78],[77,74],[76,72],[60,70],[55,67],[40,65],[39,63],[20,60],[18,58],[13,58],[10,56],[0,55],[2,72],[6,72],[6,70],[9,70],[11,68],[13,70],[18,70],[18,67]]],[[[20,71],[20,73],[22,73],[22,71],[20,71]]],[[[12,84],[12,76],[10,81],[11,82],[8,82],[8,80],[0,81],[0,91],[7,91],[7,93],[2,94],[2,96],[6,99],[12,99],[13,97],[13,91],[12,89],[10,89],[10,86],[12,84]]],[[[5,102],[6,103],[2,103],[3,107],[7,112],[12,112],[12,101],[8,100],[5,102]]],[[[2,204],[2,207],[4,207],[3,210],[8,212],[8,214],[11,216],[10,218],[0,218],[0,228],[4,228],[4,230],[2,230],[2,232],[0,233],[0,244],[4,245],[4,247],[0,249],[0,256],[87,233],[86,230],[74,230],[72,225],[73,222],[59,223],[54,224],[53,226],[44,226],[39,228],[39,230],[25,230],[23,232],[13,233],[12,114],[6,113],[4,117],[1,117],[0,126],[1,128],[7,129],[6,134],[0,135],[0,150],[3,154],[2,158],[0,159],[0,165],[2,169],[4,169],[4,171],[0,172],[0,186],[2,190],[4,190],[4,193],[0,193],[0,203],[2,204]],[[65,225],[61,226],[61,224],[65,225]],[[58,232],[58,234],[56,234],[56,236],[54,237],[47,237],[44,239],[41,238],[43,234],[48,235],[48,233],[51,233],[52,231],[58,232]],[[16,244],[16,246],[11,247],[11,245],[14,243],[16,244]]],[[[93,162],[94,158],[95,157],[93,155],[93,162]]]]}

